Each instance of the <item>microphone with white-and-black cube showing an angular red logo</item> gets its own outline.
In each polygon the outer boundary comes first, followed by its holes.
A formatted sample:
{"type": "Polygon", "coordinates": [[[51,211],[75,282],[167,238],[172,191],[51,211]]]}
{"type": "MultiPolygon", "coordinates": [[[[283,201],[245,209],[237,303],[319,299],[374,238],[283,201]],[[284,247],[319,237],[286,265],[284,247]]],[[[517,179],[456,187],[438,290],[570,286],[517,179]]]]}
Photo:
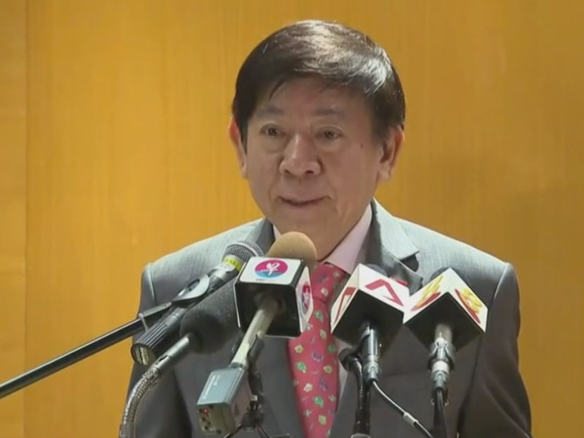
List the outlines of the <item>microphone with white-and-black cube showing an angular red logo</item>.
{"type": "MultiPolygon", "coordinates": [[[[351,346],[364,347],[365,382],[377,380],[381,349],[387,348],[402,325],[410,291],[375,265],[357,265],[331,308],[331,332],[351,346]],[[360,325],[355,330],[355,325],[360,325]]],[[[361,349],[361,348],[360,348],[361,349]]]]}

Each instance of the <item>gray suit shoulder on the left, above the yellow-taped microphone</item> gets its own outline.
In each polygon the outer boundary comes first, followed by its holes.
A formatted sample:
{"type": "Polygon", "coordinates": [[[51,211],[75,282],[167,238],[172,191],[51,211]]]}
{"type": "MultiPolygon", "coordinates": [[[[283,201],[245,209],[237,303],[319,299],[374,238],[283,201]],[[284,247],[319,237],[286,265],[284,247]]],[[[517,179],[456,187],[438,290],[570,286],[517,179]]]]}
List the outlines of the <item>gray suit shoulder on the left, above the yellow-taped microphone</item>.
{"type": "Polygon", "coordinates": [[[253,220],[205,237],[148,263],[146,269],[150,270],[158,300],[170,299],[186,284],[220,263],[227,245],[246,239],[259,222],[259,219],[253,220]]]}

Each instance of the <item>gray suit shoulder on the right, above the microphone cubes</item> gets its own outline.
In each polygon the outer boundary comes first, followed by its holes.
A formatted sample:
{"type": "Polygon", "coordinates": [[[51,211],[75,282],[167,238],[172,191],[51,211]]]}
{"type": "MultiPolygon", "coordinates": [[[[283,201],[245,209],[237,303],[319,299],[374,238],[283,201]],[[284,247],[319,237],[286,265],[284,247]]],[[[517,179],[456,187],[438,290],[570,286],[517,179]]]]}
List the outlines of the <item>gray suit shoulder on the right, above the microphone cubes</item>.
{"type": "Polygon", "coordinates": [[[508,261],[483,249],[423,225],[402,218],[398,220],[412,243],[419,249],[419,258],[433,260],[436,269],[448,266],[464,273],[469,279],[498,282],[504,270],[509,268],[508,261]]]}

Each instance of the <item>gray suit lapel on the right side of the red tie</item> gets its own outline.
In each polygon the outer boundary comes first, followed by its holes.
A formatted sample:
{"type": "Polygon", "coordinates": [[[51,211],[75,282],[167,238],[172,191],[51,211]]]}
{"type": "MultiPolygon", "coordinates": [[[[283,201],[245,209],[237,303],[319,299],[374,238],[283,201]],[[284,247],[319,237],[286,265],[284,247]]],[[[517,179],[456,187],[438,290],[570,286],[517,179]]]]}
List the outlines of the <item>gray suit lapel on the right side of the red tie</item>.
{"type": "MultiPolygon", "coordinates": [[[[422,283],[422,277],[415,271],[418,261],[415,257],[418,249],[401,227],[397,219],[377,201],[372,201],[373,218],[369,229],[365,263],[379,266],[388,277],[393,277],[407,284],[410,295],[416,292],[422,283]]],[[[384,349],[385,356],[389,349],[384,349]]],[[[383,361],[383,358],[382,358],[383,361]]],[[[331,437],[348,436],[355,423],[357,408],[357,383],[352,374],[348,374],[345,389],[338,404],[336,419],[331,430],[331,437]]]]}

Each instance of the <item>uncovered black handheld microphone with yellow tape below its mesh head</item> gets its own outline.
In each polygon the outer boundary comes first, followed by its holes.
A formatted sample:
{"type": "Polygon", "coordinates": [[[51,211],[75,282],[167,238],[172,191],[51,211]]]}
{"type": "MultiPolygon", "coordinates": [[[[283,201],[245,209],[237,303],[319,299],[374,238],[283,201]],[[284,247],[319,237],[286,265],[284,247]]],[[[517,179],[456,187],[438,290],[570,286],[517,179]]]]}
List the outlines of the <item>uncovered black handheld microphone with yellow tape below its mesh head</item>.
{"type": "Polygon", "coordinates": [[[254,242],[228,245],[221,262],[182,289],[170,302],[170,311],[132,344],[130,352],[134,362],[140,365],[154,363],[163,351],[178,341],[181,320],[189,308],[196,306],[206,296],[234,279],[251,257],[260,254],[263,254],[263,251],[254,242]]]}

